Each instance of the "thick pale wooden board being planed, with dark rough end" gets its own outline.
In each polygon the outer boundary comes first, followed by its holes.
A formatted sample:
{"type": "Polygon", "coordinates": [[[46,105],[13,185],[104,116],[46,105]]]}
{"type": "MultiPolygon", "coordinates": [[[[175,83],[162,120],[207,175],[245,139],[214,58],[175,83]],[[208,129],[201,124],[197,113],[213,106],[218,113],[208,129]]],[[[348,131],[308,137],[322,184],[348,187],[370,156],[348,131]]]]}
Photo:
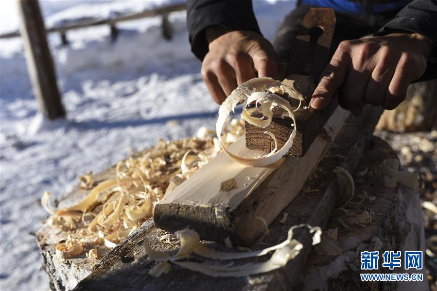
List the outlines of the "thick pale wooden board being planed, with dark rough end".
{"type": "MultiPolygon", "coordinates": [[[[258,217],[270,224],[301,191],[332,144],[348,111],[337,108],[303,157],[282,158],[273,166],[255,168],[219,154],[204,168],[166,194],[155,206],[157,227],[176,231],[190,226],[203,239],[250,245],[265,231],[258,217]],[[221,191],[221,182],[234,178],[237,187],[221,191]]],[[[245,156],[245,140],[230,150],[245,156]]]]}

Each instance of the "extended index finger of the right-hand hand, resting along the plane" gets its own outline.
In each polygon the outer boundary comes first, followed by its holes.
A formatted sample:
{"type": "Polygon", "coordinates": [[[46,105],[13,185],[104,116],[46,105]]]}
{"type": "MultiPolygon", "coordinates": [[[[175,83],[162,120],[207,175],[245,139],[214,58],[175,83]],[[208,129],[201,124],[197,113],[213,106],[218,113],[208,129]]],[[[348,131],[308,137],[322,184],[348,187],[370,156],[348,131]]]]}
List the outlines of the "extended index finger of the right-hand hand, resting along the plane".
{"type": "Polygon", "coordinates": [[[350,49],[347,43],[341,43],[322,73],[311,99],[311,107],[322,110],[328,106],[333,94],[345,80],[350,63],[350,49]]]}

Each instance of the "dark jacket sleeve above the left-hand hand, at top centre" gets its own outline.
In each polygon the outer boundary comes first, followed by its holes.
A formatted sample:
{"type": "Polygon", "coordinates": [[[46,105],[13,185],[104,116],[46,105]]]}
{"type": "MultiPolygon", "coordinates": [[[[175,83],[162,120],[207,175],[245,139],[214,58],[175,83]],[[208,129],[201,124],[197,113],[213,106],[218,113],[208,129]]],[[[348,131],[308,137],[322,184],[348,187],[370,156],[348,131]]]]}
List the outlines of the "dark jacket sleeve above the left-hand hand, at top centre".
{"type": "Polygon", "coordinates": [[[187,25],[191,51],[199,60],[208,52],[205,29],[209,26],[261,33],[252,0],[188,0],[187,25]]]}

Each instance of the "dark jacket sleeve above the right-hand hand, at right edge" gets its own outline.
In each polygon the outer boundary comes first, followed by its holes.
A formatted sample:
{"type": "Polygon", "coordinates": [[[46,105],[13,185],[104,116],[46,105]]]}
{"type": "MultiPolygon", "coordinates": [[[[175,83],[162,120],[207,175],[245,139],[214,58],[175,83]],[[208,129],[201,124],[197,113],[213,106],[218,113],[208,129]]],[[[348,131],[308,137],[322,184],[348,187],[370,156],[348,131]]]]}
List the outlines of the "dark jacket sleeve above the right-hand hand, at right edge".
{"type": "Polygon", "coordinates": [[[423,76],[417,81],[437,78],[437,0],[414,0],[406,5],[376,35],[391,31],[415,32],[426,37],[433,45],[431,59],[423,76]]]}

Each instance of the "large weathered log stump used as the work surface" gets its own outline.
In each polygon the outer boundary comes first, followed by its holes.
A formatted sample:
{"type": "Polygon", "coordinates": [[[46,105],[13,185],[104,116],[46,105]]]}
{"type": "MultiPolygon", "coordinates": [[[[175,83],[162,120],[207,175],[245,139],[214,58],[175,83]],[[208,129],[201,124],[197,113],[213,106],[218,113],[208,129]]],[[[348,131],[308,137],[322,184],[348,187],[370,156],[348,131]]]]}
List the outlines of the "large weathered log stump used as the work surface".
{"type": "MultiPolygon", "coordinates": [[[[395,154],[381,140],[369,137],[379,114],[380,111],[375,112],[372,109],[370,112],[367,111],[367,115],[350,117],[347,120],[334,145],[319,163],[312,178],[305,184],[304,191],[281,211],[278,219],[273,221],[270,225],[270,234],[262,242],[251,247],[253,250],[262,249],[282,242],[286,238],[289,227],[308,223],[312,226],[321,226],[323,229],[337,227],[338,239],[336,243],[337,247],[340,248],[339,253],[332,255],[328,251],[328,254],[325,254],[326,247],[323,248],[323,237],[320,244],[322,247],[319,249],[317,246],[312,251],[311,237],[308,231],[301,230],[296,231],[295,238],[304,244],[304,249],[294,260],[289,261],[285,268],[277,271],[250,277],[214,278],[173,266],[169,274],[154,278],[148,275],[148,272],[155,265],[155,262],[147,257],[142,245],[135,242],[147,239],[153,248],[171,253],[175,253],[178,245],[159,242],[158,238],[166,232],[156,228],[152,219],[146,221],[140,229],[94,263],[89,263],[84,258],[65,261],[57,259],[53,249],[56,245],[55,232],[51,226],[45,226],[37,233],[37,240],[46,263],[45,267],[51,277],[52,289],[287,290],[294,288],[294,290],[299,290],[311,282],[314,289],[327,286],[329,290],[338,290],[337,287],[340,287],[341,290],[381,290],[381,286],[374,283],[363,283],[359,280],[359,275],[356,272],[359,268],[359,255],[357,254],[363,249],[380,250],[380,252],[385,249],[402,250],[407,244],[410,250],[418,249],[420,244],[418,239],[423,235],[423,226],[420,225],[420,222],[410,223],[410,217],[415,215],[414,206],[416,205],[420,211],[418,201],[413,201],[416,204],[410,203],[413,207],[410,206],[408,209],[404,206],[406,202],[402,200],[403,188],[388,189],[381,186],[378,174],[379,165],[383,159],[389,156],[393,157],[395,154]],[[344,204],[341,197],[341,189],[344,188],[343,182],[336,178],[333,173],[336,166],[342,166],[350,173],[354,173],[353,169],[357,168],[358,171],[353,175],[357,186],[356,195],[361,194],[364,190],[369,195],[375,196],[373,201],[367,200],[357,209],[350,210],[359,212],[372,209],[375,215],[371,224],[364,227],[350,226],[350,230],[348,230],[338,223],[338,218],[346,214],[343,211],[340,211],[342,213],[334,211],[344,204]],[[361,177],[363,169],[368,170],[365,177],[361,177]],[[338,202],[337,206],[336,202],[338,202]],[[284,223],[281,223],[280,219],[284,213],[288,213],[288,218],[284,223]],[[331,220],[329,220],[330,217],[331,220]],[[338,259],[342,262],[339,266],[333,264],[338,259]],[[302,269],[305,272],[302,272],[302,269]],[[332,272],[327,272],[327,270],[332,272]]],[[[113,175],[114,169],[110,168],[97,175],[96,180],[113,177],[113,175]]],[[[84,192],[73,191],[68,197],[70,201],[63,201],[62,204],[71,204],[73,201],[80,200],[84,196],[84,192]]],[[[417,196],[416,193],[409,192],[409,196],[414,197],[415,195],[417,196]]],[[[416,217],[418,216],[416,215],[416,217]]],[[[346,218],[343,217],[343,219],[346,218]]],[[[221,242],[205,243],[212,248],[225,250],[221,242]]],[[[210,259],[205,260],[196,255],[193,256],[193,259],[213,263],[210,259]]],[[[238,260],[236,264],[248,261],[253,260],[238,260]]],[[[382,290],[395,290],[397,286],[393,283],[383,287],[382,290]]]]}

